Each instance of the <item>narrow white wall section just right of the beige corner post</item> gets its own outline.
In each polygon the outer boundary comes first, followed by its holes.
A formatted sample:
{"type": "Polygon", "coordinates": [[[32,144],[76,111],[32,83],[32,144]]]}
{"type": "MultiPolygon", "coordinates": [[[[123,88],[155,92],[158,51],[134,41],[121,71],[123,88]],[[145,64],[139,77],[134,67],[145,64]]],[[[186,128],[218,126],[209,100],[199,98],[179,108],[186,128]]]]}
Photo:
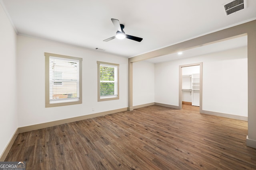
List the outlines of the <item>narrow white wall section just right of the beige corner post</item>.
{"type": "Polygon", "coordinates": [[[154,64],[146,61],[133,63],[133,106],[154,102],[154,64]]]}

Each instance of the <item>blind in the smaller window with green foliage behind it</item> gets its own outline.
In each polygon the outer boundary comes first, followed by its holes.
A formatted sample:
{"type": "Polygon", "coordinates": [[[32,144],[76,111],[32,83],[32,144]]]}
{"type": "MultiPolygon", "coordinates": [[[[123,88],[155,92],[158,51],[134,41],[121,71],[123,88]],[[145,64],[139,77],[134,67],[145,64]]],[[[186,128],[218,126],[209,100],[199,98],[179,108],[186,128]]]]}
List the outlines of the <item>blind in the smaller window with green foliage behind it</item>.
{"type": "Polygon", "coordinates": [[[117,66],[100,64],[100,98],[117,97],[117,66]]]}

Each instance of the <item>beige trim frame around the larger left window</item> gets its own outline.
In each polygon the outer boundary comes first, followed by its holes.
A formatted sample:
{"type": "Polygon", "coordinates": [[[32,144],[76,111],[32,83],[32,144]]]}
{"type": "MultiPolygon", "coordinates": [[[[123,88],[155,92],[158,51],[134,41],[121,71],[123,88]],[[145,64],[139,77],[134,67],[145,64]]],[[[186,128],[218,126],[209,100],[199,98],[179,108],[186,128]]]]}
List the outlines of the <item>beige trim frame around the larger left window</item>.
{"type": "MultiPolygon", "coordinates": [[[[44,53],[45,56],[45,107],[56,107],[56,106],[67,106],[73,104],[82,104],[82,58],[71,57],[66,55],[58,55],[52,53],[44,53]],[[69,99],[66,99],[65,102],[52,103],[50,104],[50,71],[49,71],[49,61],[50,57],[58,57],[64,59],[78,60],[79,61],[79,100],[69,102],[69,99]]],[[[64,100],[63,100],[64,101],[64,100]]]]}

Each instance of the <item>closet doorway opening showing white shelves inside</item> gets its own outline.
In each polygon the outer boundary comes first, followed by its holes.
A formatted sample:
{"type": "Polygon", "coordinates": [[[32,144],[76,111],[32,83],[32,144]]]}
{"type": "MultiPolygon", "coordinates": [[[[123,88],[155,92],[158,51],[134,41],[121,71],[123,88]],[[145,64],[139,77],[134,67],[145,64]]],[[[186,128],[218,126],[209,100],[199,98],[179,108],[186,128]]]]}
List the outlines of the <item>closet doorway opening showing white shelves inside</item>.
{"type": "MultiPolygon", "coordinates": [[[[202,105],[202,63],[180,66],[180,106],[202,105]]],[[[201,110],[201,108],[200,108],[201,110]]]]}

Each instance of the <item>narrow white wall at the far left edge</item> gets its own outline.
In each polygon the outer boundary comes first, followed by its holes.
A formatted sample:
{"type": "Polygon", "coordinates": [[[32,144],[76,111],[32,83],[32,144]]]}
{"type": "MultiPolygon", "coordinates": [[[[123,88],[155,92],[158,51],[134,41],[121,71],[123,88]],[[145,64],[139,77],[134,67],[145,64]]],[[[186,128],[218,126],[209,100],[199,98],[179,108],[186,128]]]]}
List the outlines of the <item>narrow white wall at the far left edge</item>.
{"type": "Polygon", "coordinates": [[[18,127],[16,40],[17,35],[0,4],[0,155],[18,127]]]}

